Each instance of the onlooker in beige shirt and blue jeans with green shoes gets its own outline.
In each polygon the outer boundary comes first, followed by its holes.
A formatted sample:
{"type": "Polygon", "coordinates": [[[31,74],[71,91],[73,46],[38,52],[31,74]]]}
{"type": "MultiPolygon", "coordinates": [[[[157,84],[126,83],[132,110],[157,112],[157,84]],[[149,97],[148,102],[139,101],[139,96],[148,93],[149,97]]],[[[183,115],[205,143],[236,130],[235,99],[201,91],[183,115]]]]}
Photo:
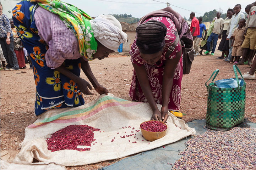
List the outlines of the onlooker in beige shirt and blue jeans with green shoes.
{"type": "Polygon", "coordinates": [[[210,50],[211,41],[213,40],[211,56],[214,56],[214,52],[215,52],[217,41],[218,41],[218,36],[219,36],[220,30],[222,28],[222,24],[224,22],[224,19],[220,18],[220,12],[217,12],[216,16],[217,16],[217,19],[214,21],[212,33],[207,40],[207,51],[205,52],[205,54],[208,54],[211,52],[211,50],[210,50]]]}

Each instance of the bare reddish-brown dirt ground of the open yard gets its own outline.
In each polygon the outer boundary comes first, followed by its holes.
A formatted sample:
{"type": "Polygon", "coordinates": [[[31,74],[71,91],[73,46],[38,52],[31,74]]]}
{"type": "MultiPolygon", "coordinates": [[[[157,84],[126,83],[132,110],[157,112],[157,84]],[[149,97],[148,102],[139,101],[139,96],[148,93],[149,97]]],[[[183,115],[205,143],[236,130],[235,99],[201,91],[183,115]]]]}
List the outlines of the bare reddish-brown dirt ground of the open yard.
{"type": "MultiPolygon", "coordinates": [[[[192,63],[190,74],[183,75],[180,111],[186,114],[183,117],[183,120],[186,122],[195,119],[205,119],[207,109],[205,82],[215,69],[218,68],[220,70],[216,80],[234,77],[233,64],[224,63],[222,60],[216,59],[220,54],[220,51],[216,51],[215,56],[196,56],[192,63]]],[[[130,56],[111,55],[104,60],[90,62],[90,66],[99,83],[107,87],[111,94],[131,100],[128,96],[133,72],[130,56]]],[[[239,69],[242,73],[246,73],[250,68],[245,65],[239,66],[239,69]]],[[[1,159],[13,160],[21,149],[20,143],[25,136],[24,129],[37,119],[33,112],[35,83],[33,70],[31,69],[20,69],[18,71],[1,70],[0,73],[1,159]],[[5,152],[4,156],[2,154],[4,153],[3,151],[5,152]]],[[[82,73],[81,77],[88,81],[85,74],[82,73]]],[[[251,115],[256,114],[256,81],[245,81],[247,83],[245,117],[247,120],[256,123],[256,118],[251,117],[251,115]]],[[[84,95],[85,102],[91,102],[99,96],[95,90],[93,90],[93,93],[94,95],[84,95]]],[[[70,170],[93,170],[103,168],[117,161],[119,160],[67,168],[70,170]]]]}

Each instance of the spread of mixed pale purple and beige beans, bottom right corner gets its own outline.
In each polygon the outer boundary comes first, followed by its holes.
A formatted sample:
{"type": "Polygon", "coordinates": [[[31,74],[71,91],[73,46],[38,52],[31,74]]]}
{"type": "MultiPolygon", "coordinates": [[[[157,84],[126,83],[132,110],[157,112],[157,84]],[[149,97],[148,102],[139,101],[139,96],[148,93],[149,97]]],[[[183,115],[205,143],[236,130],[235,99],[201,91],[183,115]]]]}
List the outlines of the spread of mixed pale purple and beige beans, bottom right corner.
{"type": "Polygon", "coordinates": [[[250,170],[256,167],[256,128],[207,130],[185,143],[173,170],[250,170]]]}

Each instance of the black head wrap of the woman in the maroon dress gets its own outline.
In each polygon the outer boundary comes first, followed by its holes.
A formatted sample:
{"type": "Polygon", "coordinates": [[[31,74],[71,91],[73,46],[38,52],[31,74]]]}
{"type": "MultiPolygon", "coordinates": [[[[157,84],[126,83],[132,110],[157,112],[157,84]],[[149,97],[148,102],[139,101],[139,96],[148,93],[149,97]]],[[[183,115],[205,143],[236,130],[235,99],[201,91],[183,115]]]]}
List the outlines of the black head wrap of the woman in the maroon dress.
{"type": "Polygon", "coordinates": [[[150,20],[136,28],[137,46],[144,54],[153,54],[163,49],[167,28],[162,22],[150,20]]]}

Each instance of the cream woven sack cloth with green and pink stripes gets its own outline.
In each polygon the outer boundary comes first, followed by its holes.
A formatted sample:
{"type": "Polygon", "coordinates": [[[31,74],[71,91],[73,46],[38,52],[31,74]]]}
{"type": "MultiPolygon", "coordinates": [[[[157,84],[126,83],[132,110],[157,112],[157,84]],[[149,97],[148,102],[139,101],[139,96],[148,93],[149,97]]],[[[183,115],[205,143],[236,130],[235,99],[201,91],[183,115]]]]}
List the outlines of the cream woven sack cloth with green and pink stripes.
{"type": "MultiPolygon", "coordinates": [[[[160,109],[161,105],[158,107],[160,109]]],[[[148,103],[131,102],[111,94],[101,95],[97,100],[76,108],[51,109],[25,129],[21,151],[17,154],[15,161],[31,163],[33,158],[36,158],[40,162],[54,162],[64,166],[86,165],[148,151],[196,133],[195,129],[189,128],[184,120],[170,114],[167,120],[167,134],[163,138],[148,142],[142,137],[141,131],[135,135],[136,138],[120,137],[131,134],[131,131],[140,130],[140,124],[150,120],[151,116],[152,110],[148,103]],[[49,151],[46,138],[73,124],[86,124],[100,129],[101,132],[94,131],[97,143],[90,147],[91,150],[49,151]],[[122,127],[125,126],[131,126],[131,128],[123,129],[122,127]],[[135,129],[132,130],[132,128],[135,129]],[[111,142],[112,139],[114,142],[111,142]],[[132,143],[134,141],[137,143],[132,143]]]]}

